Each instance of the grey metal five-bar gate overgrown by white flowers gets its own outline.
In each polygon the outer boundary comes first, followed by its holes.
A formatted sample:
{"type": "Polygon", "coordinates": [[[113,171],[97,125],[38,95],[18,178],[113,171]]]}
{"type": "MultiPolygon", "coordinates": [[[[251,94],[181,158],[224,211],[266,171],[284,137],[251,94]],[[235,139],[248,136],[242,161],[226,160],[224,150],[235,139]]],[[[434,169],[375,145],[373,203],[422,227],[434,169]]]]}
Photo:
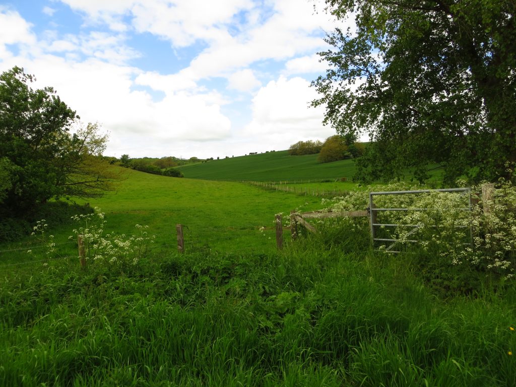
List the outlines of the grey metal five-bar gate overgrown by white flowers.
{"type": "MultiPolygon", "coordinates": [[[[431,193],[431,192],[462,192],[462,195],[469,195],[469,207],[460,208],[461,211],[471,211],[472,201],[471,201],[471,188],[449,188],[449,189],[423,189],[423,190],[414,190],[414,191],[385,191],[385,192],[369,192],[369,224],[371,230],[371,237],[373,239],[373,246],[375,246],[375,242],[382,242],[384,244],[388,244],[385,251],[398,253],[399,251],[393,250],[394,246],[398,244],[399,239],[392,238],[378,238],[376,230],[378,227],[408,227],[412,228],[412,230],[407,234],[411,235],[415,233],[418,228],[420,228],[417,224],[392,224],[392,223],[378,223],[377,215],[379,212],[386,211],[428,211],[430,208],[377,208],[374,203],[374,197],[378,195],[407,195],[407,194],[423,194],[423,193],[431,193]]],[[[460,227],[460,226],[457,226],[460,227]]],[[[468,226],[462,226],[468,227],[468,226]]],[[[410,243],[418,243],[418,240],[408,239],[406,240],[410,243]]],[[[470,243],[467,245],[473,245],[473,233],[470,227],[470,243]]]]}

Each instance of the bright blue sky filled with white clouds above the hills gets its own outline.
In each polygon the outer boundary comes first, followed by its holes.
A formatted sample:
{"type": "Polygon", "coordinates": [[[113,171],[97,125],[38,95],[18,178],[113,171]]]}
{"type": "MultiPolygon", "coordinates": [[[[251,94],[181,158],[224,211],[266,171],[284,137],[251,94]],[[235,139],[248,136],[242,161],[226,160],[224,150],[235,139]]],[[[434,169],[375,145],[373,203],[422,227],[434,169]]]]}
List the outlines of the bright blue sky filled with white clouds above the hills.
{"type": "Polygon", "coordinates": [[[337,23],[321,0],[0,0],[0,72],[98,122],[105,155],[284,150],[335,134],[309,105],[337,23]]]}

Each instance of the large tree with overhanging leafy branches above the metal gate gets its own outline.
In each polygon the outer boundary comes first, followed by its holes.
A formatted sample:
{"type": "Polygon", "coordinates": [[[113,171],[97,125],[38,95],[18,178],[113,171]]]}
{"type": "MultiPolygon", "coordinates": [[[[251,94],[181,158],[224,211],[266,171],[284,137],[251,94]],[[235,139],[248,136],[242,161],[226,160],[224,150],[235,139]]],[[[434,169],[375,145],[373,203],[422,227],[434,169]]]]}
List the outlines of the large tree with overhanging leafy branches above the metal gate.
{"type": "Polygon", "coordinates": [[[338,19],[331,68],[314,81],[325,123],[349,142],[368,132],[363,178],[436,163],[445,181],[495,179],[516,161],[514,0],[327,0],[338,19]]]}

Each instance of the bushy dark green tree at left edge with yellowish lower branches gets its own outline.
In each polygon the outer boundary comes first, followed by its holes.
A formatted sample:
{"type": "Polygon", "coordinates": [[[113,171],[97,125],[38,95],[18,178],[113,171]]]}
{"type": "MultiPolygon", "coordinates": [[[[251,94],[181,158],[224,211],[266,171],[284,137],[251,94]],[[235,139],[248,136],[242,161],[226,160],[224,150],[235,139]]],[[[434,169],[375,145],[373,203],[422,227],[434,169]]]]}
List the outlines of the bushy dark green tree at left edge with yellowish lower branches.
{"type": "Polygon", "coordinates": [[[98,157],[106,136],[94,124],[70,134],[79,117],[52,88],[30,88],[34,80],[18,67],[0,75],[2,216],[23,217],[65,195],[99,196],[116,178],[98,157]]]}

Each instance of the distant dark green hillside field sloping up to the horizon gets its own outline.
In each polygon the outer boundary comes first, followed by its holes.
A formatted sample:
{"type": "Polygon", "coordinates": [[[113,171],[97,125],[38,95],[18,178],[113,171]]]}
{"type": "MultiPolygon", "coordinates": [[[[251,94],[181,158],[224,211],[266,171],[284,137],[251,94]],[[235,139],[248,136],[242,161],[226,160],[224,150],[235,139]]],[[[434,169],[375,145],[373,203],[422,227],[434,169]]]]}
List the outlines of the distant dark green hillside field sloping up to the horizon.
{"type": "Polygon", "coordinates": [[[226,181],[348,180],[354,174],[351,159],[317,163],[317,155],[289,156],[287,151],[268,152],[213,160],[179,167],[185,178],[226,181]]]}

